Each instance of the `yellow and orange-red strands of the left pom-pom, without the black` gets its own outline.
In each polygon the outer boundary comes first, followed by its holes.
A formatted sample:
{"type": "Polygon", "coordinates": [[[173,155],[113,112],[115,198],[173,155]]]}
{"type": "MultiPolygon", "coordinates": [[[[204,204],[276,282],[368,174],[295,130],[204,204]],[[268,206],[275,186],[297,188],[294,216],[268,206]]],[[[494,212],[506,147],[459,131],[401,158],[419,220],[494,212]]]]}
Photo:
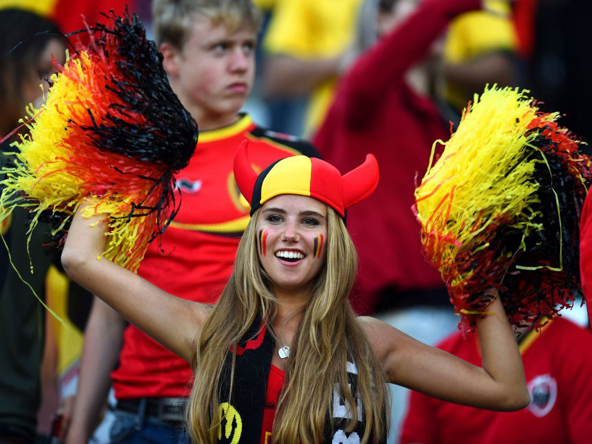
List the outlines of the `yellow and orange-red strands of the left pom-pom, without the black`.
{"type": "MultiPolygon", "coordinates": [[[[96,79],[95,69],[92,57],[86,52],[81,52],[79,58],[67,60],[62,73],[53,76],[54,83],[46,104],[40,110],[34,110],[38,117],[33,123],[27,124],[29,133],[20,136],[20,141],[13,144],[17,149],[15,156],[18,160],[14,168],[5,170],[7,179],[3,182],[5,188],[1,200],[9,208],[13,205],[34,206],[36,214],[31,220],[31,229],[34,229],[43,213],[73,214],[81,197],[88,194],[99,197],[96,194],[99,189],[104,194],[96,211],[115,217],[127,215],[131,202],[140,202],[146,198],[147,186],[143,179],[133,175],[126,177],[127,189],[125,195],[121,195],[117,189],[113,189],[118,179],[116,176],[121,176],[121,173],[113,169],[112,174],[97,174],[98,170],[108,165],[116,168],[119,164],[121,170],[126,170],[125,165],[130,163],[130,159],[95,149],[91,134],[72,124],[90,123],[89,110],[92,115],[101,115],[97,107],[105,103],[106,94],[110,95],[104,89],[105,82],[101,84],[96,79]],[[144,182],[144,186],[134,186],[134,181],[144,182]],[[23,192],[27,195],[24,201],[23,192]]],[[[112,94],[112,97],[107,98],[107,104],[115,99],[112,94]]],[[[153,177],[160,175],[156,168],[144,168],[144,173],[149,169],[153,170],[153,177]]],[[[94,210],[87,208],[84,215],[90,217],[94,213],[94,210]]],[[[62,223],[54,231],[63,229],[68,218],[63,217],[62,223]]],[[[133,254],[138,224],[153,225],[156,223],[155,215],[152,215],[152,219],[112,219],[105,257],[136,269],[143,256],[143,252],[133,254]]],[[[144,243],[147,244],[146,241],[144,243]]]]}

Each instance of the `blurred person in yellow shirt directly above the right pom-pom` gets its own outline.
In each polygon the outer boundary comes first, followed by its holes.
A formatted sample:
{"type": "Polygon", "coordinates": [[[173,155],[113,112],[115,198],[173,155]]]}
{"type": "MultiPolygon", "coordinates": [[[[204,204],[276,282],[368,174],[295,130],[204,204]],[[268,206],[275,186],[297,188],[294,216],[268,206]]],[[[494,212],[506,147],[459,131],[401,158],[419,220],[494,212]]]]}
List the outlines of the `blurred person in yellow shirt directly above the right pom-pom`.
{"type": "Polygon", "coordinates": [[[488,0],[485,7],[460,15],[446,33],[442,54],[444,93],[455,123],[467,102],[487,83],[507,86],[516,78],[516,36],[510,6],[504,0],[488,0]]]}

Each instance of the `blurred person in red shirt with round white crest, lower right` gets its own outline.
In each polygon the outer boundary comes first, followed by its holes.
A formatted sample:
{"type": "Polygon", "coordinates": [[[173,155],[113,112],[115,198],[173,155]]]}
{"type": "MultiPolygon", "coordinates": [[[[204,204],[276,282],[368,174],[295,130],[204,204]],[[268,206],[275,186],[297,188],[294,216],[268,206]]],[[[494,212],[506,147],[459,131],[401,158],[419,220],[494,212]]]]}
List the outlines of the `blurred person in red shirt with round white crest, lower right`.
{"type": "MultiPolygon", "coordinates": [[[[524,329],[523,329],[524,330],[524,329]]],[[[440,348],[475,365],[477,336],[460,332],[440,348]]],[[[592,436],[592,333],[556,318],[541,332],[522,332],[530,405],[497,412],[411,394],[401,444],[585,444],[592,436]]]]}

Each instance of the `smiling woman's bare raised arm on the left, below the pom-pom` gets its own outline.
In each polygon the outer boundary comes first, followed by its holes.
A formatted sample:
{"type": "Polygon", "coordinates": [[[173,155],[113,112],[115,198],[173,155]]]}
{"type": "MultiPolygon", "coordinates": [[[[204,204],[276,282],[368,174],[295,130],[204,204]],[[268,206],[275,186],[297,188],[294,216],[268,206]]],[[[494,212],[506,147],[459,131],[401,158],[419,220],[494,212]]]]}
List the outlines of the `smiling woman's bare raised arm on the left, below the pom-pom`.
{"type": "Polygon", "coordinates": [[[105,249],[106,232],[107,215],[89,219],[82,217],[81,211],[74,215],[62,253],[67,274],[143,332],[189,361],[208,307],[170,295],[110,260],[97,260],[105,249]]]}

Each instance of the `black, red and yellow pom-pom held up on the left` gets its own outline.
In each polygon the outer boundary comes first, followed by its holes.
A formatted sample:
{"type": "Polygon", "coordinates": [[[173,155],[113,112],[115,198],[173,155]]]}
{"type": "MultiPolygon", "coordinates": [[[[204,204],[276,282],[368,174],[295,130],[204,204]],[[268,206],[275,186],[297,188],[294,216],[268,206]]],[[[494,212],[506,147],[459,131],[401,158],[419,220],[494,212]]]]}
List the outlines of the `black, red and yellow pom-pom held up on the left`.
{"type": "Polygon", "coordinates": [[[30,110],[29,132],[2,169],[1,218],[27,207],[30,230],[48,221],[60,244],[90,195],[97,203],[83,215],[111,215],[105,257],[136,271],[178,210],[173,173],[189,162],[197,126],[137,18],[107,21],[88,30],[91,44],[57,67],[46,103],[30,110]]]}

